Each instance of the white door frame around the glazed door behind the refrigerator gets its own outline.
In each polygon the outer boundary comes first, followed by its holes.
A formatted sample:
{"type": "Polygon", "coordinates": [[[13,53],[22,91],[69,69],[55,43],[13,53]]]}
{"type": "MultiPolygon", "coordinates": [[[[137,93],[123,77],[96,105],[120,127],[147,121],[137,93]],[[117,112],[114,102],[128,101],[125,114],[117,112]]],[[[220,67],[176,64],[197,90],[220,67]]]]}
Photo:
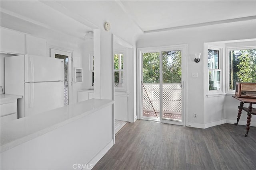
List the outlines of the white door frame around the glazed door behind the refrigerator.
{"type": "Polygon", "coordinates": [[[70,105],[73,104],[73,53],[70,51],[64,51],[57,48],[50,48],[50,57],[55,58],[55,54],[68,56],[68,105],[70,105]]]}

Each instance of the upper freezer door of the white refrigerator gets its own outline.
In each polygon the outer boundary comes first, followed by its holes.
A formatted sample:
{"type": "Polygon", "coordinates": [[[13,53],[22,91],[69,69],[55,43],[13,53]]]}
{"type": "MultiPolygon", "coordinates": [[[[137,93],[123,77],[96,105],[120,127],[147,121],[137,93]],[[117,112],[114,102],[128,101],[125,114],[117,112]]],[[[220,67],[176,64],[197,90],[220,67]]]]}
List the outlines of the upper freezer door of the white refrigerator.
{"type": "Polygon", "coordinates": [[[25,55],[25,82],[63,81],[63,59],[25,55]]]}

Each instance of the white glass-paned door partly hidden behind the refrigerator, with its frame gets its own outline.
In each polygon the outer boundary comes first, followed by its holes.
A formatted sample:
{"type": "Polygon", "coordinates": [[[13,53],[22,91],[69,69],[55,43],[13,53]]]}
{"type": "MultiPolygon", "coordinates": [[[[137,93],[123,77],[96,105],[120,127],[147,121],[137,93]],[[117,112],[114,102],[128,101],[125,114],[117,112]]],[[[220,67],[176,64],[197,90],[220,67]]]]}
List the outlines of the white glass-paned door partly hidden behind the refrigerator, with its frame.
{"type": "Polygon", "coordinates": [[[58,49],[50,49],[50,57],[64,60],[64,106],[73,103],[72,88],[72,53],[58,49]]]}

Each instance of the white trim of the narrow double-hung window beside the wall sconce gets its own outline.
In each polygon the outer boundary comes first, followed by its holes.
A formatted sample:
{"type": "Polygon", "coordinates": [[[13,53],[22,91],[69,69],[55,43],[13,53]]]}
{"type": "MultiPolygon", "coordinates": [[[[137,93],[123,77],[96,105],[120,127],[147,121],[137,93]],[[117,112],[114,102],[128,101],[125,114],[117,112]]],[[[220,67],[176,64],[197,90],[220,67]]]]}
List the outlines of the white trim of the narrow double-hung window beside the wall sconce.
{"type": "MultiPolygon", "coordinates": [[[[207,97],[210,96],[216,96],[216,94],[223,94],[224,93],[224,72],[223,72],[223,47],[219,47],[219,46],[213,46],[213,45],[208,45],[208,49],[207,49],[207,56],[208,56],[208,50],[218,50],[219,51],[219,59],[218,59],[218,69],[209,69],[208,68],[208,61],[207,61],[207,73],[208,73],[208,94],[206,94],[207,97]],[[220,71],[220,90],[209,90],[209,71],[212,70],[216,70],[216,71],[220,71]]],[[[208,59],[208,57],[207,57],[208,59]]]]}

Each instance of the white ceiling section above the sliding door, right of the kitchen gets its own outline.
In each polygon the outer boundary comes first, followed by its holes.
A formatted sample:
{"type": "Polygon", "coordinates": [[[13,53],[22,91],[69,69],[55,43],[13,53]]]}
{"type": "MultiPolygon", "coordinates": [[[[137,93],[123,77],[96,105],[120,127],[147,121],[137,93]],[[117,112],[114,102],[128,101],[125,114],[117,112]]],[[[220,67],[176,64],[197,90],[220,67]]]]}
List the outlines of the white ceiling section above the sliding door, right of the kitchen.
{"type": "Polygon", "coordinates": [[[256,1],[121,1],[143,31],[256,15],[256,1]]]}

